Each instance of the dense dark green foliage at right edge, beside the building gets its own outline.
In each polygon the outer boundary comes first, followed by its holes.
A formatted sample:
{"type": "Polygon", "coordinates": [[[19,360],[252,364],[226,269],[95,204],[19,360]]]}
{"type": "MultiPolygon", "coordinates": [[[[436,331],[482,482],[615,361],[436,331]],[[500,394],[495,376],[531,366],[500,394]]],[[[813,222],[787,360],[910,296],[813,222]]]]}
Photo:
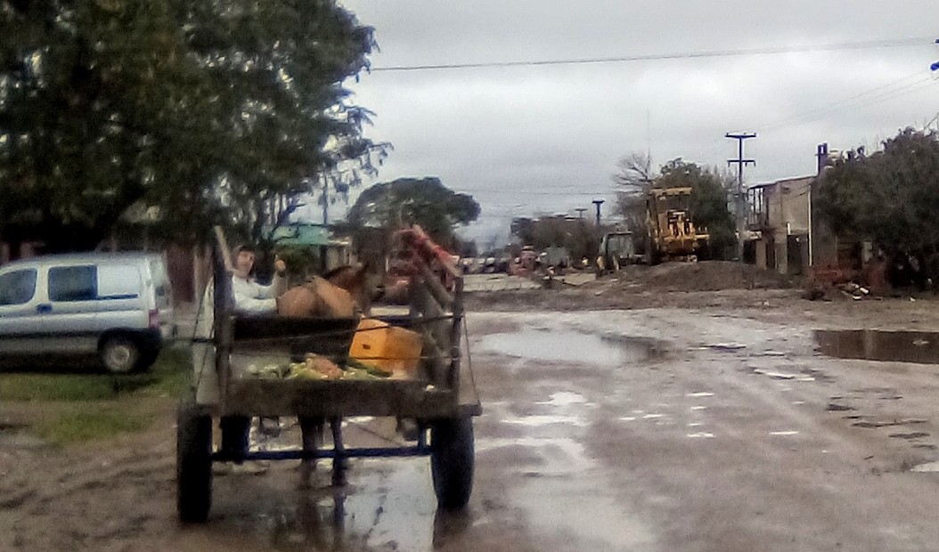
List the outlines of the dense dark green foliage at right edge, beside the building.
{"type": "Polygon", "coordinates": [[[836,161],[814,204],[839,233],[869,238],[886,253],[932,253],[939,248],[939,136],[907,129],[883,151],[836,161]]]}

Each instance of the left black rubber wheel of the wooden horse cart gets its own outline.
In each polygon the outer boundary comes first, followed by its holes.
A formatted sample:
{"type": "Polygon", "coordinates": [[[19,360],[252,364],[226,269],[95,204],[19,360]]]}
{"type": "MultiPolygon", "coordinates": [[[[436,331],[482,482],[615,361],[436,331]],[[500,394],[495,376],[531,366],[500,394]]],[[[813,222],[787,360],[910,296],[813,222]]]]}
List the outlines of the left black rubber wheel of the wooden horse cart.
{"type": "Polygon", "coordinates": [[[177,514],[203,523],[212,503],[212,417],[183,399],[177,410],[177,514]]]}

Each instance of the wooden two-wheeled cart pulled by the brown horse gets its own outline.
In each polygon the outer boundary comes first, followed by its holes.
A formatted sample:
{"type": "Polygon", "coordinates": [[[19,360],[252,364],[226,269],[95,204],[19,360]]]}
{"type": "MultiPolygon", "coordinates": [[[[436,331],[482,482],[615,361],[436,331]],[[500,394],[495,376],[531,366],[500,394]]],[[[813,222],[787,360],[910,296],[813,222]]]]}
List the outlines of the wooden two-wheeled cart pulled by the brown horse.
{"type": "Polygon", "coordinates": [[[312,354],[344,367],[349,346],[361,329],[360,320],[235,316],[230,306],[231,259],[223,235],[217,232],[212,331],[201,344],[193,345],[214,357],[210,379],[215,391],[201,392],[202,377],[196,378],[177,413],[177,512],[182,521],[207,519],[212,463],[221,461],[331,458],[333,481],[337,482],[342,481],[347,458],[426,455],[430,456],[439,505],[466,505],[473,477],[472,417],[478,416],[482,407],[469,363],[464,362],[462,275],[419,227],[399,233],[398,239],[412,268],[410,305],[400,314],[374,317],[420,334],[417,369],[407,377],[282,379],[253,376],[253,362],[271,357],[302,360],[312,354]],[[217,449],[213,445],[212,434],[217,431],[213,418],[225,416],[328,421],[332,445],[237,453],[217,449]],[[341,421],[349,416],[413,421],[418,428],[416,442],[393,448],[346,448],[341,421]]]}

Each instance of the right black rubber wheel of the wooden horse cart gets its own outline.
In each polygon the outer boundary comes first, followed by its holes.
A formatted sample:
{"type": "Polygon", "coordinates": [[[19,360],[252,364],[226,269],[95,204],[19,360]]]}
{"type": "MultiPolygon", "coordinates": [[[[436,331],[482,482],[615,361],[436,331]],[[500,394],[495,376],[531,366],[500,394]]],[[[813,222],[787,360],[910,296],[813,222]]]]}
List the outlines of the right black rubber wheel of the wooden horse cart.
{"type": "Polygon", "coordinates": [[[441,508],[463,508],[472,493],[472,418],[434,422],[430,433],[430,470],[441,508]]]}

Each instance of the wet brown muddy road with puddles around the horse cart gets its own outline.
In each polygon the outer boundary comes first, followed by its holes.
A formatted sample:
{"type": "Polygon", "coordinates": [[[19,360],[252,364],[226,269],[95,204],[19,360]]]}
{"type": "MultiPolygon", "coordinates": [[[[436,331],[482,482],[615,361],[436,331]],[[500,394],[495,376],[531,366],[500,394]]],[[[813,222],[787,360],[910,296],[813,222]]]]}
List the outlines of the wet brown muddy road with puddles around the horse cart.
{"type": "MultiPolygon", "coordinates": [[[[767,297],[470,314],[485,414],[460,514],[437,511],[425,459],[353,461],[341,489],[326,462],[308,487],[282,462],[216,478],[208,524],[180,527],[170,407],[79,450],[8,427],[0,550],[937,549],[939,317],[767,297]],[[815,333],[861,329],[918,333],[815,333]]],[[[299,440],[286,425],[265,446],[299,440]]]]}

